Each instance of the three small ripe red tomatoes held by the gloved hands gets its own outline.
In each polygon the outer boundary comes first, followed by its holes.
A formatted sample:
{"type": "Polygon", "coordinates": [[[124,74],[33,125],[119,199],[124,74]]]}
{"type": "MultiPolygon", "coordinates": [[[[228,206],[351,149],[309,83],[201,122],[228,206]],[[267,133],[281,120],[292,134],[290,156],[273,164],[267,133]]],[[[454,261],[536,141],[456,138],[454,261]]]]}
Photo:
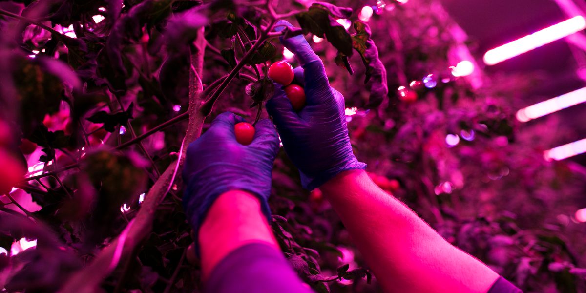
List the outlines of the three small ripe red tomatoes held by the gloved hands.
{"type": "MultiPolygon", "coordinates": [[[[297,84],[291,84],[295,78],[293,67],[285,61],[278,61],[271,64],[268,68],[268,77],[284,86],[283,90],[291,101],[291,106],[295,111],[301,111],[305,106],[305,91],[297,84]]],[[[249,145],[253,142],[254,127],[248,122],[240,122],[234,126],[236,140],[243,145],[249,145]]]]}

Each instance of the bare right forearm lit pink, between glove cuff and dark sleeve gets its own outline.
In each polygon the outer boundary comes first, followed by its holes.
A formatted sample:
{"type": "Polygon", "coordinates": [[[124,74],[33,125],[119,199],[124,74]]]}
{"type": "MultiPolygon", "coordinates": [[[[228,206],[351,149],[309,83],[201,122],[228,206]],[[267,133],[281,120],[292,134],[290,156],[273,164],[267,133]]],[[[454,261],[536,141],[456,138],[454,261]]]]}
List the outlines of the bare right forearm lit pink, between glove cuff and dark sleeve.
{"type": "Polygon", "coordinates": [[[387,292],[486,292],[498,278],[366,172],[342,172],[320,189],[387,292]]]}

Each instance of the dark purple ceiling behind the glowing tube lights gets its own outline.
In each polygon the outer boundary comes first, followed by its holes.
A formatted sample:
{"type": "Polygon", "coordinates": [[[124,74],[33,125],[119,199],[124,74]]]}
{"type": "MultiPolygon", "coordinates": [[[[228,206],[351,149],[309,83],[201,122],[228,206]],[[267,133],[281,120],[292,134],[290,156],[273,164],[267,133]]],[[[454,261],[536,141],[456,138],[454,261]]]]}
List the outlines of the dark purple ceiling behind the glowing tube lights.
{"type": "MultiPolygon", "coordinates": [[[[455,21],[468,33],[474,44],[473,56],[479,64],[483,64],[482,56],[487,50],[568,19],[557,3],[581,6],[582,15],[586,6],[580,2],[582,0],[441,1],[455,21]]],[[[576,56],[583,57],[586,54],[584,50],[561,39],[495,66],[487,66],[485,71],[489,74],[527,73],[547,77],[544,82],[524,93],[519,107],[526,107],[586,86],[586,82],[578,77],[580,66],[576,56]]],[[[563,128],[560,133],[565,135],[547,138],[548,148],[586,138],[586,103],[537,118],[522,127],[530,128],[551,119],[560,121],[560,128],[563,128]]],[[[572,160],[586,165],[586,154],[575,156],[572,160]]]]}

